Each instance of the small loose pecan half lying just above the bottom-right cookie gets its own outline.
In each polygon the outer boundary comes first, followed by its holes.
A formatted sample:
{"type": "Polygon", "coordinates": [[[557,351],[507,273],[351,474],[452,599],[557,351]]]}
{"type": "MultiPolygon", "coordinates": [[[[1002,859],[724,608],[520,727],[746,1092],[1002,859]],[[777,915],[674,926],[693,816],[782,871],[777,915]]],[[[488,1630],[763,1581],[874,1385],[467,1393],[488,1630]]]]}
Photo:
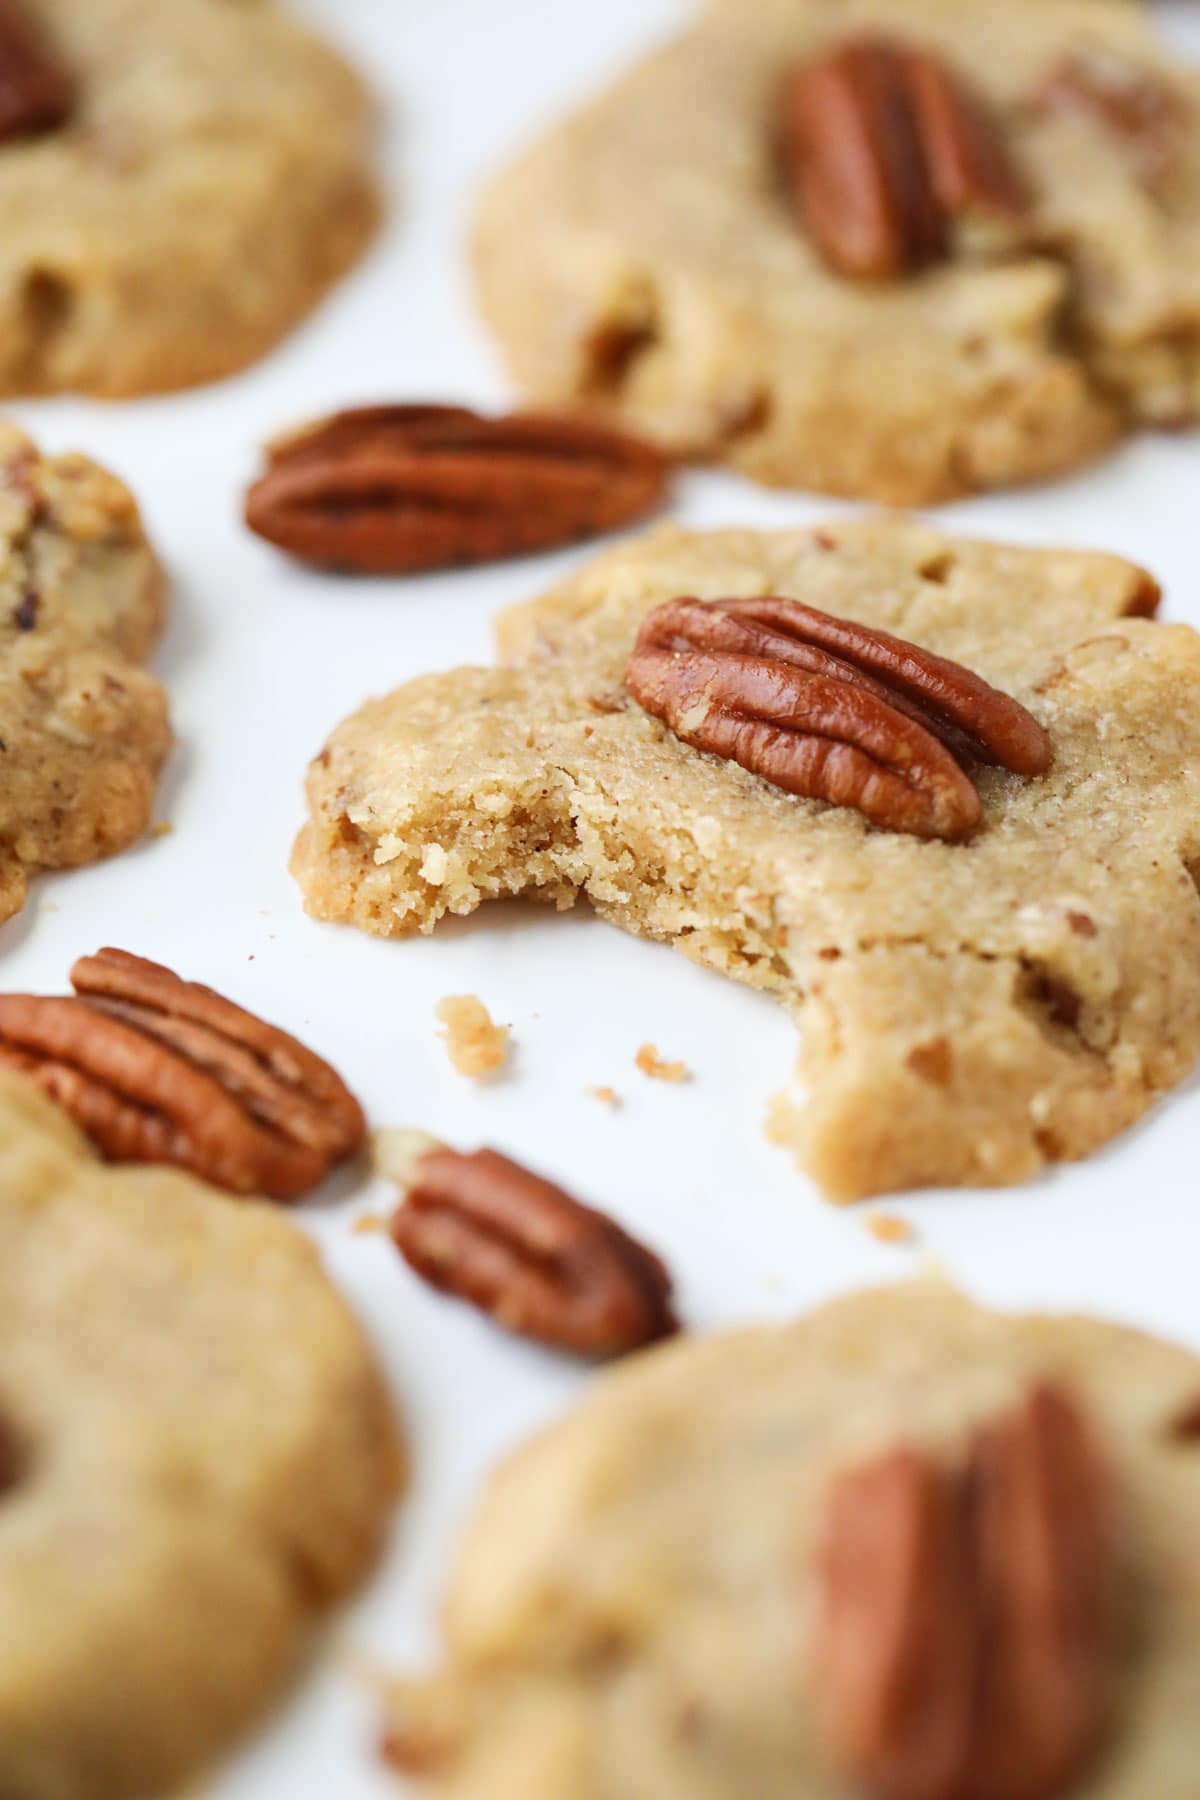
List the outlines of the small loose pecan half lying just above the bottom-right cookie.
{"type": "Polygon", "coordinates": [[[497,1150],[437,1147],[412,1166],[392,1238],[434,1287],[498,1325],[581,1355],[678,1330],[653,1251],[497,1150]]]}

